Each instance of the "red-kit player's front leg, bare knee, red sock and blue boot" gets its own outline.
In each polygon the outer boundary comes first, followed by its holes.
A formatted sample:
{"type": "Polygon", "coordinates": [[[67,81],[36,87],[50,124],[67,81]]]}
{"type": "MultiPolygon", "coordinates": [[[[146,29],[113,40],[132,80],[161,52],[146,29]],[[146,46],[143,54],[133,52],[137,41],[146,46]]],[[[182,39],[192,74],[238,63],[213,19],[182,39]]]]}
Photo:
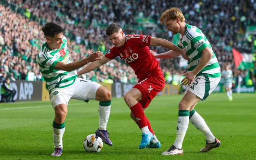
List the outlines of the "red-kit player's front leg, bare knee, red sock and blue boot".
{"type": "Polygon", "coordinates": [[[142,105],[137,101],[142,99],[142,93],[137,88],[132,88],[124,95],[124,101],[130,107],[135,119],[138,121],[139,126],[142,130],[142,140],[139,148],[145,148],[148,146],[150,141],[153,139],[153,134],[148,128],[148,123],[142,105]]]}

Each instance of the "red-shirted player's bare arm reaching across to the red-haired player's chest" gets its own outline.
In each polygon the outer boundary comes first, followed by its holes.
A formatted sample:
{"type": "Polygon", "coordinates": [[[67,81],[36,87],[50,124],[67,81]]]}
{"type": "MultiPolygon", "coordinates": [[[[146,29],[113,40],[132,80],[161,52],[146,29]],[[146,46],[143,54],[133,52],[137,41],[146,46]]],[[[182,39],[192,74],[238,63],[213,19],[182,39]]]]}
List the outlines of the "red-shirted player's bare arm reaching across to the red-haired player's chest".
{"type": "Polygon", "coordinates": [[[174,51],[180,53],[180,55],[186,54],[184,49],[180,49],[174,43],[172,43],[168,40],[164,40],[162,38],[152,37],[150,40],[150,46],[163,46],[163,47],[166,47],[167,49],[174,50],[174,51]]]}

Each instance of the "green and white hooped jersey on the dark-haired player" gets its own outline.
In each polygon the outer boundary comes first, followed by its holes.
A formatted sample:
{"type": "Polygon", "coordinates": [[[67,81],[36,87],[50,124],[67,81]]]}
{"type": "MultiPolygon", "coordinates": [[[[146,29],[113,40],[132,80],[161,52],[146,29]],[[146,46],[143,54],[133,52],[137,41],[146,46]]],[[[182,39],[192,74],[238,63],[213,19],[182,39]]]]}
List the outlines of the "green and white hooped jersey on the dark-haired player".
{"type": "Polygon", "coordinates": [[[67,72],[54,69],[58,61],[71,63],[68,57],[67,39],[63,37],[62,40],[63,43],[60,49],[50,49],[47,43],[44,43],[36,57],[40,72],[46,81],[46,89],[49,92],[52,89],[65,88],[72,85],[77,77],[76,70],[67,72]]]}

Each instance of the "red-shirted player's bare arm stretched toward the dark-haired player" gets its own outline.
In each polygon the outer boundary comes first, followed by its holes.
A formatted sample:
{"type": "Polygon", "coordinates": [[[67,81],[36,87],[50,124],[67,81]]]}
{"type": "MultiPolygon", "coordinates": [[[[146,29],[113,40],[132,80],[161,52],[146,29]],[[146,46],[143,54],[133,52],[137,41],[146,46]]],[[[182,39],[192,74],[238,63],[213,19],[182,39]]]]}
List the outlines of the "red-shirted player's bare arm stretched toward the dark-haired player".
{"type": "Polygon", "coordinates": [[[79,75],[82,75],[84,73],[88,73],[90,71],[93,71],[94,69],[96,69],[96,68],[100,67],[101,65],[104,65],[108,61],[112,60],[112,59],[108,59],[105,55],[103,55],[100,58],[101,59],[99,61],[91,62],[86,67],[84,67],[84,69],[82,69],[81,71],[78,71],[77,75],[79,76],[79,75]]]}

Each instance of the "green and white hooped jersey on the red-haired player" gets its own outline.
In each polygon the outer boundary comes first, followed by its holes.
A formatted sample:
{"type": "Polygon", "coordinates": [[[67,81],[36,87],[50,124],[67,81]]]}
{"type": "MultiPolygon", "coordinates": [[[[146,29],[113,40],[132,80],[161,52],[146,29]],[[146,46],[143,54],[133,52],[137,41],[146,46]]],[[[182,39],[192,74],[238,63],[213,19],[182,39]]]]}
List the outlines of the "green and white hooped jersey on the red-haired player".
{"type": "MultiPolygon", "coordinates": [[[[203,32],[195,26],[186,24],[185,35],[182,38],[180,34],[178,47],[185,49],[189,60],[188,60],[188,71],[192,71],[199,63],[202,57],[202,50],[209,47],[212,51],[212,46],[204,36],[203,32]]],[[[220,65],[218,63],[217,57],[213,53],[212,59],[208,62],[206,67],[198,73],[199,75],[208,76],[211,78],[221,77],[220,65]]]]}

